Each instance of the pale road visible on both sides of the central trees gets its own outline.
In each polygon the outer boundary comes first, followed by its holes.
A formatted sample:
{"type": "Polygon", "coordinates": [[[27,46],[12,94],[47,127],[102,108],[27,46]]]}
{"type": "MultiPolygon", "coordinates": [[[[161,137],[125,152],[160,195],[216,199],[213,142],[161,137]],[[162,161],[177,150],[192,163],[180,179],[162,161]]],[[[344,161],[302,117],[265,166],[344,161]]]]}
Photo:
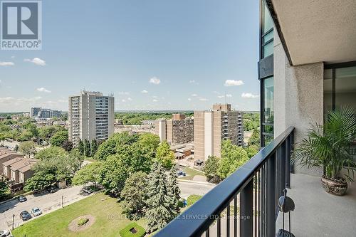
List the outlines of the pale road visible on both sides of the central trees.
{"type": "MultiPolygon", "coordinates": [[[[187,198],[191,194],[204,195],[208,191],[214,188],[214,184],[209,183],[199,183],[193,181],[179,181],[179,189],[181,189],[182,198],[187,198]]],[[[68,189],[60,189],[53,194],[41,194],[41,195],[28,195],[26,196],[27,201],[20,203],[17,200],[8,201],[4,204],[0,204],[0,229],[11,229],[12,228],[12,216],[15,214],[14,227],[20,226],[22,223],[28,221],[22,221],[20,218],[21,211],[31,212],[33,207],[38,207],[41,209],[43,214],[48,214],[51,211],[61,209],[62,206],[62,196],[63,204],[67,206],[73,204],[75,201],[85,199],[89,196],[88,194],[83,194],[80,192],[82,186],[73,186],[68,189]]],[[[41,216],[43,216],[43,214],[41,216]]],[[[39,216],[31,218],[38,218],[39,216]]],[[[31,221],[29,220],[29,221],[31,221]]]]}

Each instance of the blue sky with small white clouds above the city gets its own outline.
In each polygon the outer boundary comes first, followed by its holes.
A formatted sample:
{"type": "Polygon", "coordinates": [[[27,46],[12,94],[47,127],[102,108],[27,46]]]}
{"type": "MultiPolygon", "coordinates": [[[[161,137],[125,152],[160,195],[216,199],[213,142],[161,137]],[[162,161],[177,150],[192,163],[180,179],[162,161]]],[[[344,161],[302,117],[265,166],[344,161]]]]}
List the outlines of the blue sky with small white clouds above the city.
{"type": "Polygon", "coordinates": [[[42,50],[0,51],[0,112],[68,111],[80,90],[115,110],[258,110],[258,1],[42,3],[42,50]]]}

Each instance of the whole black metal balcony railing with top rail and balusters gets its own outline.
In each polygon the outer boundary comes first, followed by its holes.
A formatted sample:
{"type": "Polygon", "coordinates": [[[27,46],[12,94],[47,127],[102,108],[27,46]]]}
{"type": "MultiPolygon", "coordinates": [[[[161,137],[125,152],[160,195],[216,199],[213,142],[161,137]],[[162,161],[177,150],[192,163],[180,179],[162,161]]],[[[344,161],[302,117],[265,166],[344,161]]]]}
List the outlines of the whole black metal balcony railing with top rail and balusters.
{"type": "Polygon", "coordinates": [[[290,188],[293,143],[294,127],[288,127],[155,236],[276,236],[277,201],[290,188]]]}

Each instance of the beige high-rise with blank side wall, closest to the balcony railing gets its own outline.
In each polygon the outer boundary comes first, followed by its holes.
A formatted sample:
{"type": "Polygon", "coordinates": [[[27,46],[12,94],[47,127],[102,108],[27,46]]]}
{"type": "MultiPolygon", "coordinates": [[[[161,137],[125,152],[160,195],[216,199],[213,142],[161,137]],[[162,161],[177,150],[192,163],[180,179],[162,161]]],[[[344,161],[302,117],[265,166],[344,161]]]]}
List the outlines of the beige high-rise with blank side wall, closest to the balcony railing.
{"type": "Polygon", "coordinates": [[[244,144],[243,114],[231,105],[213,105],[210,111],[194,112],[194,158],[206,161],[209,156],[221,157],[221,141],[244,144]]]}

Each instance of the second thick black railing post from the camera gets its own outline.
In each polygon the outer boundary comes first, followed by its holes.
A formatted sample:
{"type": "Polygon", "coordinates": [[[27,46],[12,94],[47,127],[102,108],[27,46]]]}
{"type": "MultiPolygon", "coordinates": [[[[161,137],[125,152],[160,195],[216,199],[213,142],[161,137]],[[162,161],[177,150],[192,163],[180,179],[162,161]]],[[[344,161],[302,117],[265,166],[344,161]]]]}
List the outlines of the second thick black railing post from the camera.
{"type": "Polygon", "coordinates": [[[276,236],[276,152],[267,161],[266,236],[276,236]]]}

